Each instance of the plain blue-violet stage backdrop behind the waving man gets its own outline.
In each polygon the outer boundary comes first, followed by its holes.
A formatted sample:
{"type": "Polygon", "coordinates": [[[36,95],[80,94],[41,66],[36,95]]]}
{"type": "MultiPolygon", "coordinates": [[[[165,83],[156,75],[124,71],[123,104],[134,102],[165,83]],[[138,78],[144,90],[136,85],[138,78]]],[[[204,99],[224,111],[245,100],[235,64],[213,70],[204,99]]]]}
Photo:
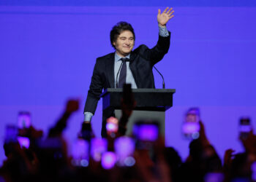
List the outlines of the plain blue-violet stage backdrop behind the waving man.
{"type": "MultiPolygon", "coordinates": [[[[18,111],[30,111],[32,123],[47,134],[64,111],[68,98],[80,99],[65,136],[75,141],[97,57],[113,52],[110,29],[124,20],[135,28],[135,47],[157,42],[155,1],[1,1],[0,3],[0,161],[4,130],[17,122],[18,111]]],[[[170,50],[157,63],[167,88],[176,89],[166,113],[166,145],[185,159],[189,141],[181,124],[189,107],[197,106],[206,134],[221,157],[226,149],[242,151],[238,119],[250,116],[256,126],[255,1],[163,1],[175,17],[170,50]]],[[[162,87],[157,73],[155,82],[162,87]]],[[[102,103],[92,120],[100,135],[102,103]]]]}

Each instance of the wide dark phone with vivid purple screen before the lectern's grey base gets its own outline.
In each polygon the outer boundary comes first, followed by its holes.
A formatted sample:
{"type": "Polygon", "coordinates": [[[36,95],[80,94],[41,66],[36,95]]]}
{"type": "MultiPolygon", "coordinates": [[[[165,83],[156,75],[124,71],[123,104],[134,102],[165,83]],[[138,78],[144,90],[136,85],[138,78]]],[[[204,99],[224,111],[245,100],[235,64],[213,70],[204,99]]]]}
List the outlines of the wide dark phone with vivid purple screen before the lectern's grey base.
{"type": "Polygon", "coordinates": [[[159,137],[159,124],[154,121],[136,122],[133,127],[138,149],[151,149],[154,141],[159,137]]]}

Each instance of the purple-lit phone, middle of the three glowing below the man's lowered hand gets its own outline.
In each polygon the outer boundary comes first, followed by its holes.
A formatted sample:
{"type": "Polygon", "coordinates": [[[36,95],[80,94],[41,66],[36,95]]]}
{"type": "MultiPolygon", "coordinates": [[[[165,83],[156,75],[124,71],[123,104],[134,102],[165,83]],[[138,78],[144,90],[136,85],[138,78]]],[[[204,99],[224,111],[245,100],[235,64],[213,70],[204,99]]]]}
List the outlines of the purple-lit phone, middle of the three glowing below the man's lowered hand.
{"type": "Polygon", "coordinates": [[[91,158],[99,162],[102,159],[102,154],[108,149],[108,141],[105,138],[91,139],[91,158]]]}

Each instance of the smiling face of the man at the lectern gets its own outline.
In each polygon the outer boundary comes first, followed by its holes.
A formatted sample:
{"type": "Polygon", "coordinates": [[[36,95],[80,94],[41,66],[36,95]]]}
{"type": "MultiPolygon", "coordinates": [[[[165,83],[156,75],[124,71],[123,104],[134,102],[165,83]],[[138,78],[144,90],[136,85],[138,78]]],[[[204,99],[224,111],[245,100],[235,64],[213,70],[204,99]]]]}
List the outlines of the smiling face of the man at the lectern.
{"type": "Polygon", "coordinates": [[[123,31],[117,37],[116,41],[113,42],[113,45],[116,47],[116,53],[125,57],[132,52],[132,49],[135,45],[135,39],[131,31],[123,31]]]}

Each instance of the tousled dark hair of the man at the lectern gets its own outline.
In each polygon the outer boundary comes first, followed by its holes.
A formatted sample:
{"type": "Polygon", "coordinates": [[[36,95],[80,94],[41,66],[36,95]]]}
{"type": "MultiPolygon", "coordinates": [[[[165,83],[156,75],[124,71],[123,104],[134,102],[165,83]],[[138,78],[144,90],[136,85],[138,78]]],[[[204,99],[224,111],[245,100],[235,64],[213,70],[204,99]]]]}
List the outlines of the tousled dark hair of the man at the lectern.
{"type": "Polygon", "coordinates": [[[112,30],[110,31],[110,42],[112,47],[116,49],[116,47],[113,45],[113,42],[116,41],[117,37],[122,33],[123,31],[131,31],[133,34],[133,38],[135,39],[135,32],[132,28],[132,25],[127,22],[118,22],[116,25],[113,26],[112,30]]]}

